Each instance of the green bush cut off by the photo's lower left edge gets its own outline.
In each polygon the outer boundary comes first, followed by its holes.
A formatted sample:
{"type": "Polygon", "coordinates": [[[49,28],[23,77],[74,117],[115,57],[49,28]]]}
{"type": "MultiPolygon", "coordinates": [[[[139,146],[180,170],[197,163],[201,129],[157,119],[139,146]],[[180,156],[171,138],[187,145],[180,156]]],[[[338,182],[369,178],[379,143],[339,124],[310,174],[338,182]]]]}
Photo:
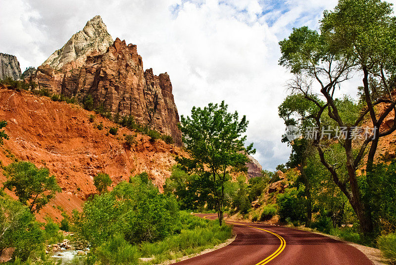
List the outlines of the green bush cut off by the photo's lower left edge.
{"type": "Polygon", "coordinates": [[[43,248],[43,233],[34,215],[18,201],[0,196],[0,256],[4,249],[15,248],[14,258],[26,261],[43,248]]]}

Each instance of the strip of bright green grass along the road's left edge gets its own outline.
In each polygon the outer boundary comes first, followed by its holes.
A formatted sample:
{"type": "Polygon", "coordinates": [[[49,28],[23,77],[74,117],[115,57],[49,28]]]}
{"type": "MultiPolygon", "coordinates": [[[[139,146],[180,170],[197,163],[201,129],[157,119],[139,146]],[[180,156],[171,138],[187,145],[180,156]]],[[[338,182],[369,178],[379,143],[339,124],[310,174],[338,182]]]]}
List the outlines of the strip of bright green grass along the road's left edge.
{"type": "Polygon", "coordinates": [[[227,241],[231,235],[232,227],[229,225],[220,226],[218,221],[202,219],[182,211],[175,233],[163,241],[143,242],[134,246],[129,244],[122,235],[114,235],[86,258],[76,258],[71,264],[159,264],[213,248],[227,241]],[[153,260],[145,263],[139,260],[139,258],[152,257],[153,260]],[[89,259],[92,261],[90,262],[89,259]]]}

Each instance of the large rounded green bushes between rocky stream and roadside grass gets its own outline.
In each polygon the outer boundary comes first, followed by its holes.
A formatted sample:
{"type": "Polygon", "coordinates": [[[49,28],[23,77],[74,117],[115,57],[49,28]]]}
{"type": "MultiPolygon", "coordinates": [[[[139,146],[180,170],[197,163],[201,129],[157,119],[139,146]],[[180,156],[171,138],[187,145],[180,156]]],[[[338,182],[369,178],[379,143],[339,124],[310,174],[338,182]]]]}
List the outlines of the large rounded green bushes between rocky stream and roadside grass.
{"type": "Polygon", "coordinates": [[[121,182],[111,192],[96,195],[74,212],[77,236],[94,248],[121,233],[130,244],[164,239],[178,220],[174,197],[160,194],[146,175],[121,182]]]}

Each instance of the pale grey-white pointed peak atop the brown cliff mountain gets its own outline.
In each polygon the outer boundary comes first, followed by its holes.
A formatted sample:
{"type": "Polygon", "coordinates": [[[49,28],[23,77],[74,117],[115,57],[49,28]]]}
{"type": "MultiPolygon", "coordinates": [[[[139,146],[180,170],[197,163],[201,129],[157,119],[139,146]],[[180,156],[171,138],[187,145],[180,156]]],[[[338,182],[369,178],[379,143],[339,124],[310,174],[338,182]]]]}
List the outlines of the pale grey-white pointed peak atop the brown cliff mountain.
{"type": "Polygon", "coordinates": [[[87,55],[93,52],[104,53],[113,39],[107,32],[106,25],[100,16],[87,22],[84,29],[74,34],[62,48],[55,50],[42,64],[60,70],[66,64],[74,62],[73,68],[81,67],[87,55]]]}

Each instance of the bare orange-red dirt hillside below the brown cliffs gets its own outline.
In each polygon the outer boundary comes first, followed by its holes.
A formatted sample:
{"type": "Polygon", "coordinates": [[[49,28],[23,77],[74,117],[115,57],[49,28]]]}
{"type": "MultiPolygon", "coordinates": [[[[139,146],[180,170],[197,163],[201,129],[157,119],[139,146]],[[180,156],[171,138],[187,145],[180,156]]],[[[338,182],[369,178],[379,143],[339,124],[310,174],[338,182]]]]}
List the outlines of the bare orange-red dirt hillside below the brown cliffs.
{"type": "MultiPolygon", "coordinates": [[[[60,221],[63,208],[68,214],[80,209],[83,200],[96,193],[93,177],[108,174],[113,185],[146,171],[153,183],[162,189],[170,176],[174,157],[184,154],[162,140],[150,143],[147,135],[119,128],[116,135],[108,134],[117,125],[84,110],[78,105],[54,102],[26,91],[0,89],[0,120],[8,122],[0,147],[3,166],[18,160],[47,167],[55,175],[62,192],[41,212],[39,219],[49,215],[60,221]],[[98,125],[102,123],[103,129],[98,125]],[[107,135],[106,135],[107,134],[107,135]],[[123,135],[136,135],[136,145],[128,148],[123,135]]],[[[5,177],[0,174],[0,182],[5,177]]]]}

